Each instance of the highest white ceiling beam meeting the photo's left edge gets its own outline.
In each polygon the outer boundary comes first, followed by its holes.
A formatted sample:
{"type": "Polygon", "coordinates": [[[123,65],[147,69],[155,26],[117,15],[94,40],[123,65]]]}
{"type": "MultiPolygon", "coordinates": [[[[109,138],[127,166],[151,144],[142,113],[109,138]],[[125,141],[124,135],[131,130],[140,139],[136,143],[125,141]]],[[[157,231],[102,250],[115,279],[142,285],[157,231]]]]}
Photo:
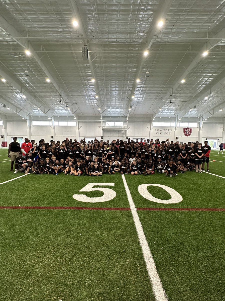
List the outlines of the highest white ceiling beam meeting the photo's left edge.
{"type": "MultiPolygon", "coordinates": [[[[21,23],[22,25],[22,23],[21,23]]],[[[22,34],[19,33],[15,27],[13,27],[4,17],[0,15],[0,28],[7,33],[8,36],[10,36],[16,43],[18,43],[22,48],[29,50],[32,53],[32,57],[35,59],[35,61],[38,63],[38,65],[41,67],[42,71],[45,73],[46,77],[50,79],[50,82],[55,87],[58,94],[61,94],[64,101],[66,101],[67,96],[64,94],[63,91],[61,91],[60,87],[58,86],[57,82],[55,81],[52,74],[49,72],[48,67],[44,65],[44,63],[41,60],[41,57],[38,56],[38,54],[35,52],[35,49],[32,47],[31,43],[22,37],[22,34]],[[21,37],[21,38],[13,38],[13,37],[21,37]]],[[[26,31],[26,29],[25,29],[26,31]]],[[[25,95],[25,92],[23,93],[25,95]]],[[[44,105],[42,104],[42,107],[44,105]]],[[[74,115],[74,117],[76,117],[74,115]]]]}

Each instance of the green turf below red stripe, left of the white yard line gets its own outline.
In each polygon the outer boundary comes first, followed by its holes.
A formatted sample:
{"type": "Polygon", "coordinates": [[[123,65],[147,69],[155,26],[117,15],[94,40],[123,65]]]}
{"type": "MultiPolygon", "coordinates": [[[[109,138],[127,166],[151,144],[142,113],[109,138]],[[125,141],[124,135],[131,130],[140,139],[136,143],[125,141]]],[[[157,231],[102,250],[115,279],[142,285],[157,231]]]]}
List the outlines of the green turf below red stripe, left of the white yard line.
{"type": "Polygon", "coordinates": [[[1,299],[154,300],[130,211],[0,214],[1,299]]]}

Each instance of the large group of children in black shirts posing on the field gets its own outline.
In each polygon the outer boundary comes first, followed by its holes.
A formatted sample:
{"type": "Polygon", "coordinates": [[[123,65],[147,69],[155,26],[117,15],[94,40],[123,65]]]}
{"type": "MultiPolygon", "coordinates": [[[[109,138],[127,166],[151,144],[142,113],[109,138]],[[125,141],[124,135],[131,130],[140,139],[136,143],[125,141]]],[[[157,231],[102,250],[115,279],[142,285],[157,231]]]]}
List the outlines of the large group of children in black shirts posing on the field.
{"type": "Polygon", "coordinates": [[[66,138],[61,143],[53,140],[45,143],[41,139],[37,145],[35,140],[26,139],[25,146],[30,145],[30,150],[26,153],[23,148],[18,154],[14,173],[102,176],[118,172],[146,176],[159,172],[172,177],[193,170],[201,173],[205,163],[209,172],[211,147],[208,141],[202,145],[198,141],[179,144],[169,139],[161,142],[117,139],[110,143],[109,140],[81,139],[78,142],[66,138]]]}

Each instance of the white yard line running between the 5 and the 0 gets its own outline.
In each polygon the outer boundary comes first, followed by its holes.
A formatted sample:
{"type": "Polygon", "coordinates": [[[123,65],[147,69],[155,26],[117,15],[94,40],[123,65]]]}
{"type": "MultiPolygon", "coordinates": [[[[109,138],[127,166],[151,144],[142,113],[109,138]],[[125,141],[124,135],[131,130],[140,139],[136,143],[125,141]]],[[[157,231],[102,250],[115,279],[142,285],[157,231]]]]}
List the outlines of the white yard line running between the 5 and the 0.
{"type": "Polygon", "coordinates": [[[165,290],[164,290],[164,288],[162,286],[162,283],[161,283],[161,280],[159,278],[159,275],[158,275],[158,272],[157,272],[157,269],[156,269],[156,266],[155,266],[155,262],[154,262],[154,259],[152,257],[152,253],[149,249],[149,244],[148,244],[147,239],[145,237],[142,224],[141,224],[139,216],[137,214],[137,209],[134,205],[134,201],[132,199],[131,192],[129,190],[129,187],[127,185],[127,182],[126,182],[126,179],[125,179],[124,175],[122,175],[122,179],[123,179],[123,183],[124,183],[125,190],[126,190],[126,193],[127,193],[127,197],[128,197],[129,205],[130,205],[130,208],[131,208],[131,213],[132,213],[132,216],[133,216],[133,219],[134,219],[134,224],[135,224],[135,227],[136,227],[139,242],[140,242],[140,245],[142,247],[142,252],[143,252],[144,259],[145,259],[145,263],[146,263],[147,271],[148,271],[148,274],[149,274],[150,282],[152,284],[152,289],[153,289],[153,292],[154,292],[154,295],[155,295],[155,299],[156,299],[156,301],[168,301],[165,290]]]}

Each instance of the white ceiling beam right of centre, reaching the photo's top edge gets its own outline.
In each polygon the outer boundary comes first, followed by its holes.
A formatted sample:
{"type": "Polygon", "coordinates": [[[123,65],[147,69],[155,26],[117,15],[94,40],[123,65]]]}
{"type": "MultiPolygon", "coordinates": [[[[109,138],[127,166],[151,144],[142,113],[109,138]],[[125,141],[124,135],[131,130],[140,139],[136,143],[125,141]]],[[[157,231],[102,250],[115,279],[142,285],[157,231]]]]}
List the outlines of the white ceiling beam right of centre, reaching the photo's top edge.
{"type": "MultiPolygon", "coordinates": [[[[136,82],[137,79],[140,79],[144,64],[146,60],[148,59],[148,56],[144,56],[144,52],[148,51],[149,48],[151,48],[152,44],[154,43],[154,37],[157,36],[158,33],[160,33],[161,29],[158,26],[158,22],[161,20],[164,20],[166,18],[167,13],[170,10],[171,5],[173,4],[174,0],[164,0],[162,5],[159,5],[159,10],[157,14],[155,15],[155,18],[153,20],[153,26],[151,30],[149,31],[149,34],[147,35],[147,40],[144,41],[141,49],[142,53],[140,55],[140,61],[139,64],[137,65],[137,71],[136,75],[134,78],[134,83],[131,88],[131,95],[128,96],[129,102],[128,102],[128,107],[132,104],[132,96],[135,94],[138,82],[136,82]]],[[[127,114],[127,118],[129,118],[129,113],[127,114]]]]}

